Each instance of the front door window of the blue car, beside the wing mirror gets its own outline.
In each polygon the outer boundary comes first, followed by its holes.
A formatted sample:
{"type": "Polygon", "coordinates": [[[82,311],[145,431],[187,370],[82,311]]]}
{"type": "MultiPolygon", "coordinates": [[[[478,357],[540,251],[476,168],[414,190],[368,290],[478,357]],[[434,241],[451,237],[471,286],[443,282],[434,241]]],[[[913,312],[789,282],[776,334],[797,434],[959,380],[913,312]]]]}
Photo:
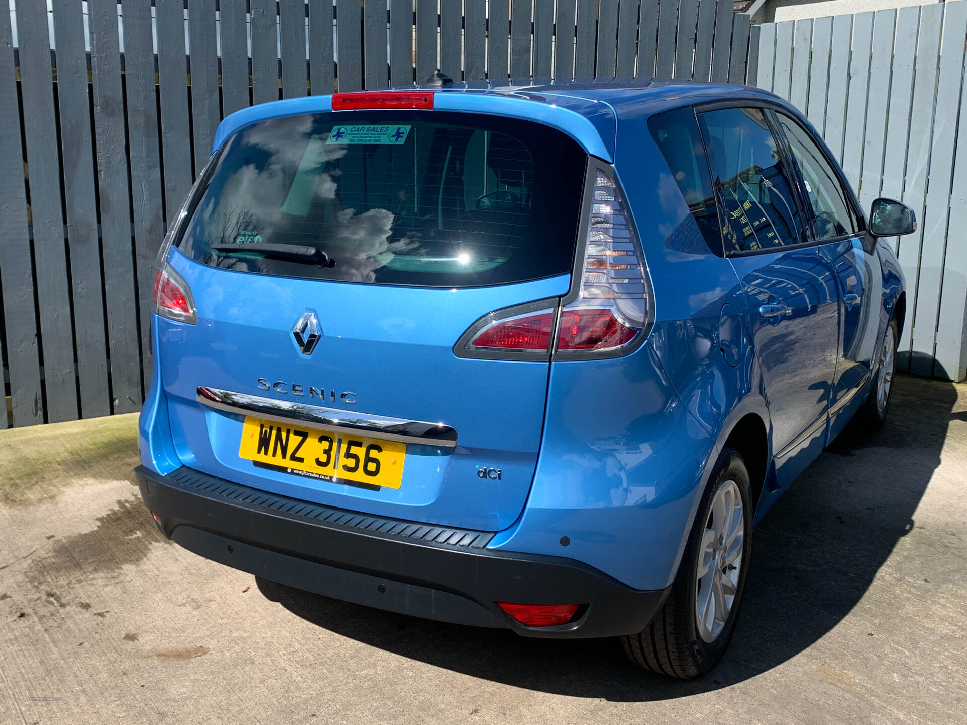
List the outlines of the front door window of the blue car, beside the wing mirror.
{"type": "Polygon", "coordinates": [[[779,127],[803,174],[806,198],[812,208],[812,227],[817,241],[856,234],[860,224],[830,162],[802,126],[788,116],[776,114],[779,127]]]}

